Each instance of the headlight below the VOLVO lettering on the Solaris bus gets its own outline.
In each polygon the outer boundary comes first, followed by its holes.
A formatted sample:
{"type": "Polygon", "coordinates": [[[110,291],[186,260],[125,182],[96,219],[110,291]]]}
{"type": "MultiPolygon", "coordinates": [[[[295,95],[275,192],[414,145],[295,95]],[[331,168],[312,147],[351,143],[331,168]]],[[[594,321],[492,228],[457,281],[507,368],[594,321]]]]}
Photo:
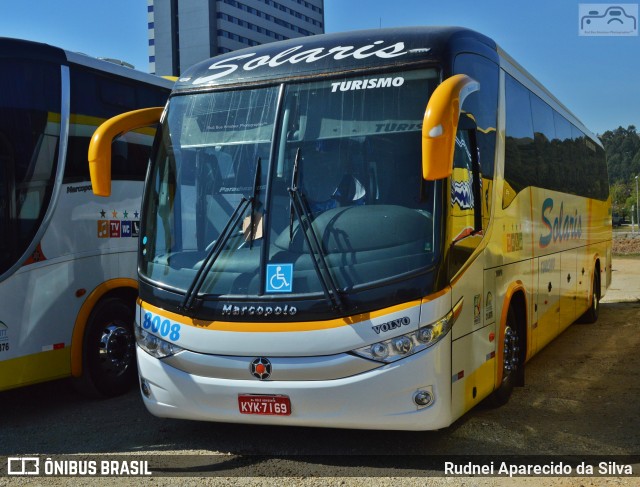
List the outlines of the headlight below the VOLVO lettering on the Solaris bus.
{"type": "Polygon", "coordinates": [[[389,340],[360,347],[352,353],[377,362],[390,363],[432,347],[449,332],[462,311],[462,299],[446,316],[435,323],[421,326],[417,331],[406,333],[389,340]]]}

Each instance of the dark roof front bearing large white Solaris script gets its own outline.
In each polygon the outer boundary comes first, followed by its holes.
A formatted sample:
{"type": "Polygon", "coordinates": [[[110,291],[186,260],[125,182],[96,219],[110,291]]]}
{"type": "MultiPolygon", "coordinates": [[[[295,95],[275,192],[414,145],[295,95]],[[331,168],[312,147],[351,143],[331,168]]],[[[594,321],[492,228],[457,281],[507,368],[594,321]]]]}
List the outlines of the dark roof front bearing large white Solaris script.
{"type": "Polygon", "coordinates": [[[185,71],[174,92],[407,64],[441,63],[449,56],[453,45],[469,42],[493,53],[491,57],[497,62],[495,42],[470,29],[361,30],[299,37],[232,51],[185,71]]]}

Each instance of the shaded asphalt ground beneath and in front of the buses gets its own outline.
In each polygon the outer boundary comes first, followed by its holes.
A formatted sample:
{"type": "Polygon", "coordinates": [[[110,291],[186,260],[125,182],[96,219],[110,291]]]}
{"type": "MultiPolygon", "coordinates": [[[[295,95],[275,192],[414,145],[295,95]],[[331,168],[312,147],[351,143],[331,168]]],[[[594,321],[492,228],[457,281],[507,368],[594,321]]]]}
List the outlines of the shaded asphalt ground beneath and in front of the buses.
{"type": "MultiPolygon", "coordinates": [[[[420,470],[441,475],[443,459],[462,462],[471,455],[495,460],[541,455],[541,461],[595,455],[631,463],[637,476],[638,276],[640,260],[614,261],[614,285],[599,321],[572,325],[534,357],[526,367],[525,386],[516,389],[506,406],[476,408],[445,430],[379,432],[167,420],[151,416],[138,391],[96,401],[80,396],[67,381],[57,381],[0,393],[0,455],[121,454],[156,463],[167,458],[172,465],[179,456],[192,468],[190,475],[205,470],[227,480],[323,475],[336,481],[354,475],[404,477],[420,470]]],[[[629,479],[623,475],[622,480],[629,479]]],[[[582,479],[576,485],[591,484],[582,479]]]]}

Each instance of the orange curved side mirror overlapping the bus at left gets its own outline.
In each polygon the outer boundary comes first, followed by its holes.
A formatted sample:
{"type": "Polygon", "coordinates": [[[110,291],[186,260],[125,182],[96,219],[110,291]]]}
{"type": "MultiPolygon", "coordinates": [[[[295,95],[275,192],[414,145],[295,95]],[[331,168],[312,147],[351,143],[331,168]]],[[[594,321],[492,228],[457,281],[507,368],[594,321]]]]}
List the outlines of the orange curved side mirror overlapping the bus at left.
{"type": "Polygon", "coordinates": [[[162,107],[144,108],[123,113],[103,122],[89,143],[89,174],[93,193],[97,196],[111,195],[111,144],[126,132],[155,125],[162,116],[162,107]]]}

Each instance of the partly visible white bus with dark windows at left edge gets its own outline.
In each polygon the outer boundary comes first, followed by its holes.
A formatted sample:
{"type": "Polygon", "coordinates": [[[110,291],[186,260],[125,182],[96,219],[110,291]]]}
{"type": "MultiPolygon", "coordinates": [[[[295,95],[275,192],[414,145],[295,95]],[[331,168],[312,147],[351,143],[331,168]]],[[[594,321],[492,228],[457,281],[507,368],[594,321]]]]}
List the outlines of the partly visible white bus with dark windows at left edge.
{"type": "MultiPolygon", "coordinates": [[[[140,201],[154,130],[114,142],[114,190],[91,191],[104,120],[166,103],[173,83],[0,38],[0,390],[74,376],[94,395],[136,383],[140,201]]],[[[111,162],[111,161],[110,161],[111,162]]]]}

